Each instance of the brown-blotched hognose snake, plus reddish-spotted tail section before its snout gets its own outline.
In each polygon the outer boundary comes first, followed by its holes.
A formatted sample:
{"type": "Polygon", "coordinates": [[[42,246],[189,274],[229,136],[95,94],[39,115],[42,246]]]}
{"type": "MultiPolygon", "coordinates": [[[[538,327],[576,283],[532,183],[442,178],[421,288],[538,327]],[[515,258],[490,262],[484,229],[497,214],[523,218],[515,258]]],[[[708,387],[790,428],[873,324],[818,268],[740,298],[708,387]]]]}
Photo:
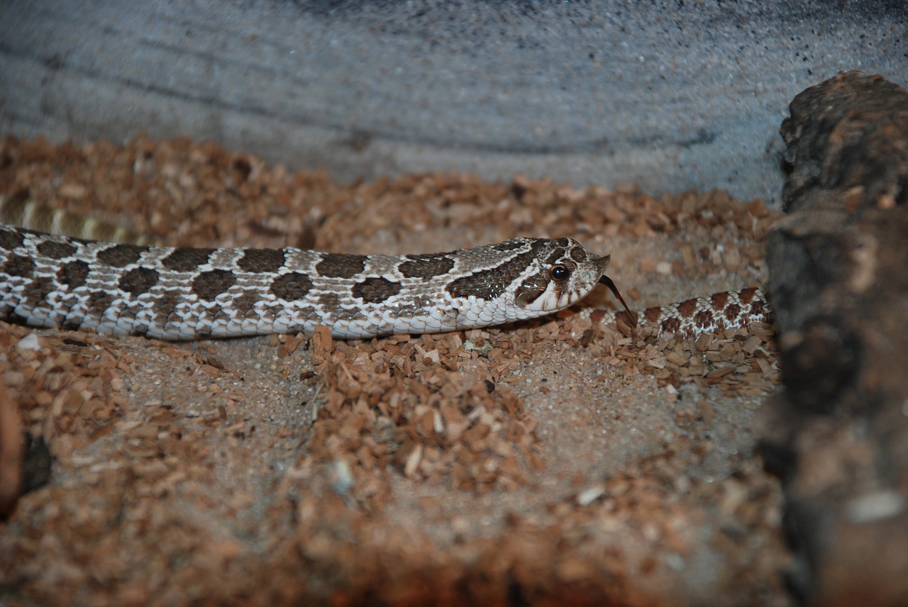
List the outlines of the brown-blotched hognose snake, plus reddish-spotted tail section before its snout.
{"type": "MultiPolygon", "coordinates": [[[[576,305],[599,284],[624,304],[605,274],[610,256],[568,237],[400,256],[175,248],[92,220],[75,231],[102,240],[49,233],[74,230],[73,220],[39,209],[0,197],[0,320],[31,327],[192,340],[312,333],[321,325],[333,338],[363,339],[539,318],[576,305]]],[[[608,324],[621,312],[581,313],[608,324]]],[[[753,288],[629,314],[632,325],[690,337],[769,322],[771,309],[763,289],[753,288]]]]}

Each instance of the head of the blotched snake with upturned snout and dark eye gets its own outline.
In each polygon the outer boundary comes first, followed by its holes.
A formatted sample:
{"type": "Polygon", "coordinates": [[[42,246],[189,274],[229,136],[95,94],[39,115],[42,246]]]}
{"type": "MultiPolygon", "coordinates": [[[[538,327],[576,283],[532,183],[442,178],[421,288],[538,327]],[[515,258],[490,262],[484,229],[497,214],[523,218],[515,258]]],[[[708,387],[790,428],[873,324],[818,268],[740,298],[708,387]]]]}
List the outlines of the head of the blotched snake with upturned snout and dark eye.
{"type": "Polygon", "coordinates": [[[515,294],[528,316],[550,314],[587,297],[605,275],[610,258],[593,255],[569,238],[539,240],[534,248],[537,263],[515,294]]]}

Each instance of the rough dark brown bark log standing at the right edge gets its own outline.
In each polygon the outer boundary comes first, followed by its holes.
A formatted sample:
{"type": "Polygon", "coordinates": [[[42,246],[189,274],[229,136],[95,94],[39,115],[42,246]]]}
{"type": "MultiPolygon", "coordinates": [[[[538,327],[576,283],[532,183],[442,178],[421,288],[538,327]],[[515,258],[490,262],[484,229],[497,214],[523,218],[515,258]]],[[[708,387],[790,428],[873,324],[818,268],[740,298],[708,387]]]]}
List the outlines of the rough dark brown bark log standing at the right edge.
{"type": "Polygon", "coordinates": [[[908,93],[840,73],[782,125],[788,216],[767,247],[785,396],[790,582],[822,605],[908,604],[908,93]]]}

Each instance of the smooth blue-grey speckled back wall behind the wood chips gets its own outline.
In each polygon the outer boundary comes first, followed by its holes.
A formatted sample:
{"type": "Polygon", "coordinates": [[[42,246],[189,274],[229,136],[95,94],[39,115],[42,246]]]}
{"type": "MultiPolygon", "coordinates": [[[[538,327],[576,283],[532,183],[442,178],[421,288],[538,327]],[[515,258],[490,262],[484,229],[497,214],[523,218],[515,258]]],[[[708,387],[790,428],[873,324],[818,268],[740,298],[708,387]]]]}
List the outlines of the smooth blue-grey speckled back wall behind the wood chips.
{"type": "Polygon", "coordinates": [[[900,0],[4,0],[0,134],[773,203],[787,104],[840,70],[908,83],[906,32],[900,0]]]}

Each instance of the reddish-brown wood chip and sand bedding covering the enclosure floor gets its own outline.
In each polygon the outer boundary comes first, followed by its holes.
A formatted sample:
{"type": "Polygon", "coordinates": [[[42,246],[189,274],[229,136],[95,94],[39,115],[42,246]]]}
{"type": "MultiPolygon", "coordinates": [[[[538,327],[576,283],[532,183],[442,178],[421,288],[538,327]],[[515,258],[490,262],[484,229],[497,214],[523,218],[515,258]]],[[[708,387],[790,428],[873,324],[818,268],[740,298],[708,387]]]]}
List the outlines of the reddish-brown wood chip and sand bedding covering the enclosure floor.
{"type": "MultiPolygon", "coordinates": [[[[640,308],[763,279],[776,217],[725,192],[522,176],[342,184],[144,136],[7,137],[0,193],[174,245],[418,253],[571,235],[612,253],[640,308]]],[[[763,326],[627,338],[574,310],[359,342],[174,345],[0,323],[0,455],[11,409],[52,455],[49,482],[0,523],[0,602],[787,604],[779,490],[742,405],[779,384],[775,352],[763,326]],[[556,378],[559,364],[585,380],[556,378]],[[610,400],[622,390],[637,396],[610,400]],[[588,446],[556,457],[571,445],[545,436],[584,436],[557,402],[587,434],[613,409],[655,421],[607,464],[588,446]],[[725,449],[726,427],[749,446],[725,449]]]]}

